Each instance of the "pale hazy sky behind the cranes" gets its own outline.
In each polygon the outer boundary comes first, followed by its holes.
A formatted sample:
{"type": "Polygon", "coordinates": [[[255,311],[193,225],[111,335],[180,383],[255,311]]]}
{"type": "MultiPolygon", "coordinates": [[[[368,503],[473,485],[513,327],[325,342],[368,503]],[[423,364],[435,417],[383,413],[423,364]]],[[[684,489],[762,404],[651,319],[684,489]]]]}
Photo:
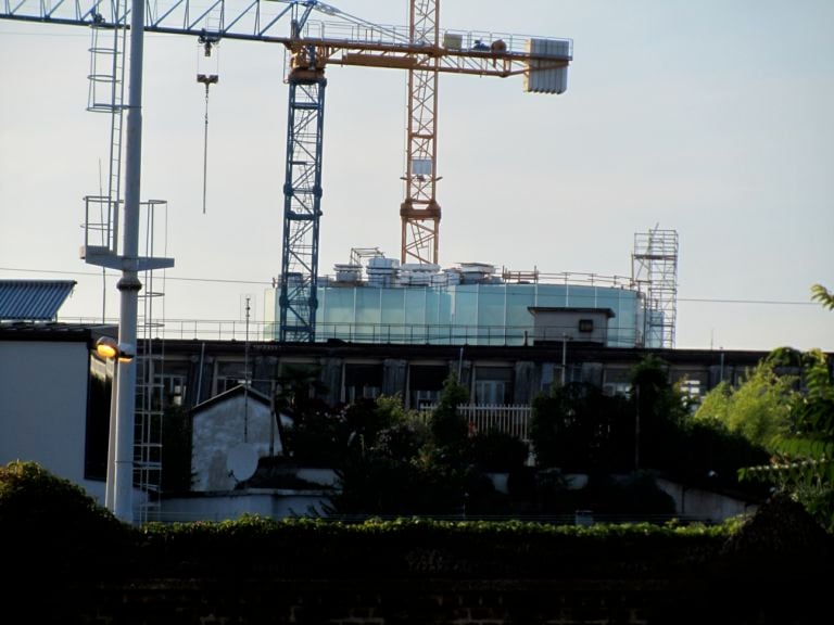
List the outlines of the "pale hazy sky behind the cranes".
{"type": "MultiPolygon", "coordinates": [[[[166,0],[162,0],[162,4],[166,0]]],[[[405,25],[407,0],[332,0],[405,25]]],[[[834,352],[834,2],[442,0],[441,28],[567,38],[568,90],[442,75],[440,264],[631,276],[634,238],[679,237],[675,346],[834,352]]],[[[109,118],[87,111],[87,28],[0,20],[0,279],[70,279],[60,319],[117,319],[118,273],[86,264],[84,197],[109,118]]],[[[143,201],[164,320],[264,318],[280,272],[283,48],[147,35],[143,201]],[[203,206],[205,91],[210,89],[203,206]]],[[[319,273],[400,254],[406,74],[327,69],[319,273]]]]}

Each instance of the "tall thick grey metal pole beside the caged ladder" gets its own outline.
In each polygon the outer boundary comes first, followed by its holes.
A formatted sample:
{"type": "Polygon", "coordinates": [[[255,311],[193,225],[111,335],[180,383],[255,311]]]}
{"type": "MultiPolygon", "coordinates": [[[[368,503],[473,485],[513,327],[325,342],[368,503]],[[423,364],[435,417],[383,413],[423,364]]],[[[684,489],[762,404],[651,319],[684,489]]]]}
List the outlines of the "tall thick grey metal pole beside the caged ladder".
{"type": "MultiPolygon", "coordinates": [[[[127,154],[125,162],[125,224],[118,343],[136,356],[136,330],[139,302],[139,202],[142,154],[142,46],[144,0],[130,3],[130,64],[127,107],[127,154]]],[[[134,522],[134,421],[136,412],[136,358],[117,361],[117,413],[115,454],[114,514],[134,522]]]]}

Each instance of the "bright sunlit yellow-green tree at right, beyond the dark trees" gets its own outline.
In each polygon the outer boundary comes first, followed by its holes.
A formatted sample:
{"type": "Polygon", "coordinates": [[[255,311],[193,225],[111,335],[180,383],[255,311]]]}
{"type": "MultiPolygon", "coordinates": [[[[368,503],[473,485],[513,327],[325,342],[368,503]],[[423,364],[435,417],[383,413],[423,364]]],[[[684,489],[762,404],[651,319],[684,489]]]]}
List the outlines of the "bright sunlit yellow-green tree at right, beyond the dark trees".
{"type": "Polygon", "coordinates": [[[695,420],[720,424],[756,445],[770,447],[789,428],[789,407],[796,395],[796,379],[774,369],[784,362],[784,355],[781,352],[759,362],[736,388],[721,382],[706,395],[695,420]]]}

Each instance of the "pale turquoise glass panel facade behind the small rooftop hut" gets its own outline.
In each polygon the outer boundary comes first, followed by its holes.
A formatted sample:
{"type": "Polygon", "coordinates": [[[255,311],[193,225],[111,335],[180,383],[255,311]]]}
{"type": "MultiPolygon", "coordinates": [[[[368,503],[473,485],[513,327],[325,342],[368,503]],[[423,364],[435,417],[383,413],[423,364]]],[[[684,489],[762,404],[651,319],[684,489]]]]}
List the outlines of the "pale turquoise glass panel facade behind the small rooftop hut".
{"type": "MultiPolygon", "coordinates": [[[[269,302],[268,326],[279,319],[280,311],[277,296],[265,301],[269,302]]],[[[609,308],[614,317],[608,320],[607,346],[634,347],[647,339],[643,332],[643,297],[635,290],[584,284],[479,283],[319,285],[316,341],[523,345],[533,336],[530,307],[609,308]]],[[[275,334],[277,337],[277,324],[275,334]]]]}

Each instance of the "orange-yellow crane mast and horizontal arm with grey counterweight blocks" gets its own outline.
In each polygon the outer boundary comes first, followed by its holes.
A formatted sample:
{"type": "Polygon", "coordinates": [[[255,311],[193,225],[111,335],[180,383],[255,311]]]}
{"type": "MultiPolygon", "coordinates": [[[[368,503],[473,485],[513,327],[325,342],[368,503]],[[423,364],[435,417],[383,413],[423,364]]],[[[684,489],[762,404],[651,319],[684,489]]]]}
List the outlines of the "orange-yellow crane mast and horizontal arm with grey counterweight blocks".
{"type": "Polygon", "coordinates": [[[437,200],[438,78],[441,73],[476,76],[525,76],[527,91],[561,93],[572,44],[567,39],[515,35],[476,35],[442,30],[440,0],[409,0],[407,31],[376,26],[348,16],[333,7],[317,9],[355,21],[354,40],[317,38],[309,27],[290,44],[295,67],[308,67],[311,46],[320,71],[328,64],[406,69],[408,125],[401,262],[438,263],[441,208],[437,200]],[[488,39],[489,38],[489,39],[488,39]]]}

